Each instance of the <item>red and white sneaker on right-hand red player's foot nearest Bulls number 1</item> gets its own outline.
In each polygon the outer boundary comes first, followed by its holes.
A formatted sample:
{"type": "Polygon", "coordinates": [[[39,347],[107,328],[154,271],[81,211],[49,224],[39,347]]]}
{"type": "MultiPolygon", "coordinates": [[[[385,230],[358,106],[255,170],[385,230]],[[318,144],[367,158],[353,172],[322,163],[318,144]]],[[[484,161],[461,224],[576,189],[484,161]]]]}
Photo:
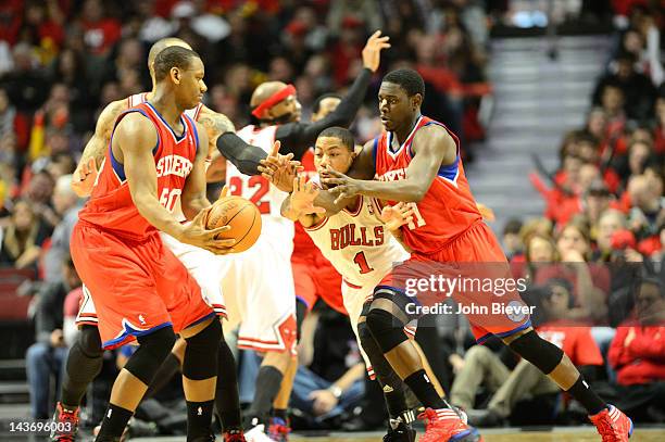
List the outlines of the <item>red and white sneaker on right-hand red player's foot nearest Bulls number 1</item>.
{"type": "Polygon", "coordinates": [[[482,442],[482,437],[474,427],[464,424],[460,415],[450,409],[427,408],[418,415],[425,420],[425,434],[418,442],[482,442]]]}

